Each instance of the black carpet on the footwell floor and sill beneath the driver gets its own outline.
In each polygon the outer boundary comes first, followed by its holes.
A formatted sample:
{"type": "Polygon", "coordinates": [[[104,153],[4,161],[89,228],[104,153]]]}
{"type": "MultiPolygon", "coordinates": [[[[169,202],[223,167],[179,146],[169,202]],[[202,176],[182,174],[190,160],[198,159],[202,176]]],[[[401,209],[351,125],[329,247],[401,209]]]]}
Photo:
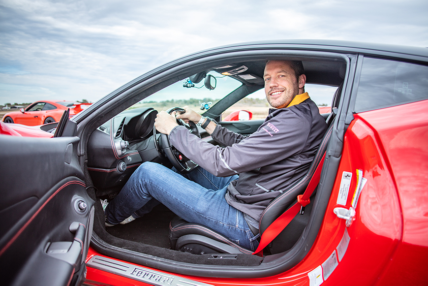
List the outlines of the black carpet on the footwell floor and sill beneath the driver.
{"type": "MultiPolygon", "coordinates": [[[[99,201],[99,198],[96,198],[99,201]]],[[[126,256],[126,251],[148,254],[154,257],[177,261],[178,263],[203,264],[203,265],[236,265],[253,267],[260,265],[263,257],[251,254],[237,254],[236,259],[212,259],[212,254],[189,254],[170,249],[169,245],[169,223],[175,216],[168,208],[158,205],[152,212],[143,218],[136,219],[127,224],[118,224],[106,227],[104,224],[104,212],[100,203],[95,204],[95,218],[93,223],[94,234],[103,242],[122,248],[124,253],[117,250],[103,249],[96,246],[101,254],[114,258],[123,259],[132,263],[148,265],[157,268],[158,260],[148,260],[132,254],[126,256]]],[[[159,268],[160,269],[160,268],[159,268]]]]}

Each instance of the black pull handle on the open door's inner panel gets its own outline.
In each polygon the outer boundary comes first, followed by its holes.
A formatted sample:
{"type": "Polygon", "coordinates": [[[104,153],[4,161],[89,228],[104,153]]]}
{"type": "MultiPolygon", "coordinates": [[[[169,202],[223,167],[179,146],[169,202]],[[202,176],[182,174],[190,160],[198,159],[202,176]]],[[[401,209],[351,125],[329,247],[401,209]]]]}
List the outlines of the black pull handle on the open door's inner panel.
{"type": "Polygon", "coordinates": [[[83,253],[85,225],[80,222],[71,223],[69,230],[75,232],[73,242],[57,241],[47,245],[46,253],[76,267],[83,253]]]}

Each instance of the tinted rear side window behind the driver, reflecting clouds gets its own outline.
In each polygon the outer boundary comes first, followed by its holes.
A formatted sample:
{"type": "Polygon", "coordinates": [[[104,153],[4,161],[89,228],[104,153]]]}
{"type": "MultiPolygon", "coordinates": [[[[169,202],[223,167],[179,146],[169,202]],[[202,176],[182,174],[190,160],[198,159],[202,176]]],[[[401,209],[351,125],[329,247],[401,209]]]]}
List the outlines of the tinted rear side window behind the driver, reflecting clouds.
{"type": "Polygon", "coordinates": [[[355,112],[428,99],[428,66],[364,58],[355,112]]]}

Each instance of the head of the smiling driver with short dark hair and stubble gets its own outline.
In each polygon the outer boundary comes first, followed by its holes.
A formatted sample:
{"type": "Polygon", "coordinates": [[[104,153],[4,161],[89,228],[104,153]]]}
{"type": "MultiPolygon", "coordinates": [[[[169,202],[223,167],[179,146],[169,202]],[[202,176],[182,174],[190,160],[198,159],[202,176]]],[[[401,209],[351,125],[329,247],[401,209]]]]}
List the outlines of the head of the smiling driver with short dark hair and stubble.
{"type": "Polygon", "coordinates": [[[263,75],[266,99],[274,108],[284,108],[294,96],[303,93],[306,76],[296,78],[296,74],[287,61],[269,61],[263,75]]]}

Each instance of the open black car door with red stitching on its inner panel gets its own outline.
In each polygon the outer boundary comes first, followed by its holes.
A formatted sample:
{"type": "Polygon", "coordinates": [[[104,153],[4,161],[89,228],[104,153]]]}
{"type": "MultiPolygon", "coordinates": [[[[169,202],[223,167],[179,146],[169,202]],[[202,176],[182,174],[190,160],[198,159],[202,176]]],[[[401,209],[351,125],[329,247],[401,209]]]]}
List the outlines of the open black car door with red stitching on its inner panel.
{"type": "Polygon", "coordinates": [[[84,278],[93,200],[78,142],[0,135],[3,285],[75,285],[84,278]]]}

